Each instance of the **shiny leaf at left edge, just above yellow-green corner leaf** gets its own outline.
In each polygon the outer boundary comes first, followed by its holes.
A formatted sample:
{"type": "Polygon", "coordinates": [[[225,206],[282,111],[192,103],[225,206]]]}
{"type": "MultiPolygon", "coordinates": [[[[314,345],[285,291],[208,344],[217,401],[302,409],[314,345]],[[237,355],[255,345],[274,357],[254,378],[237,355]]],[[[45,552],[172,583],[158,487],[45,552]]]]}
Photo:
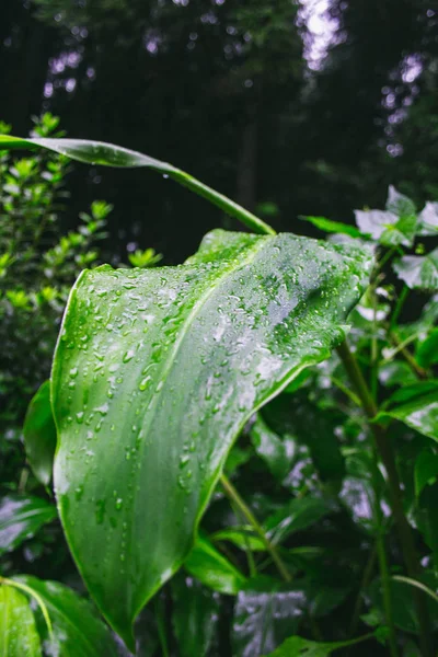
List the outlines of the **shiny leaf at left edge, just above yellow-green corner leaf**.
{"type": "Polygon", "coordinates": [[[0,554],[15,550],[56,517],[56,507],[39,497],[8,495],[1,498],[0,554]]]}

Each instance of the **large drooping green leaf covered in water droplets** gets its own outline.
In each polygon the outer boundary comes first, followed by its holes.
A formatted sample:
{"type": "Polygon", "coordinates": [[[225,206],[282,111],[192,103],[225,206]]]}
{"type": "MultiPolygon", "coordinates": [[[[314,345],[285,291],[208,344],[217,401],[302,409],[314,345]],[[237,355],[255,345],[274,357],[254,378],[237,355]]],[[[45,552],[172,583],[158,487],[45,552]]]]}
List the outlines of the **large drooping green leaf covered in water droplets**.
{"type": "Polygon", "coordinates": [[[55,484],[83,578],[130,645],[235,437],[344,338],[370,266],[356,246],[218,230],[182,266],[80,276],[51,378],[55,484]]]}

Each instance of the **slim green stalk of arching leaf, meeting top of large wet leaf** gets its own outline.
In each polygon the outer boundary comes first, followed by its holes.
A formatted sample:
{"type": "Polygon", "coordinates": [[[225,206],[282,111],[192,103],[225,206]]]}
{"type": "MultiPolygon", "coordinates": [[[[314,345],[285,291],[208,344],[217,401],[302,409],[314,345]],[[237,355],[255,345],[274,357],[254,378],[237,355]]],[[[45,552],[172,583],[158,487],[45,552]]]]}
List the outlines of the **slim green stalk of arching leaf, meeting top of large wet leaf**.
{"type": "Polygon", "coordinates": [[[184,187],[187,187],[192,192],[195,192],[195,194],[198,194],[198,196],[201,196],[203,198],[206,198],[214,205],[218,206],[221,210],[227,212],[227,215],[235,217],[239,219],[239,221],[242,221],[242,223],[251,228],[251,230],[254,232],[266,235],[276,234],[275,230],[262,221],[262,219],[258,219],[258,217],[249,210],[245,210],[245,208],[240,206],[238,203],[234,203],[230,198],[227,198],[227,196],[223,196],[223,194],[219,194],[219,192],[211,189],[211,187],[208,187],[208,185],[205,185],[188,173],[176,169],[169,172],[169,177],[177,181],[181,185],[184,185],[184,187]]]}

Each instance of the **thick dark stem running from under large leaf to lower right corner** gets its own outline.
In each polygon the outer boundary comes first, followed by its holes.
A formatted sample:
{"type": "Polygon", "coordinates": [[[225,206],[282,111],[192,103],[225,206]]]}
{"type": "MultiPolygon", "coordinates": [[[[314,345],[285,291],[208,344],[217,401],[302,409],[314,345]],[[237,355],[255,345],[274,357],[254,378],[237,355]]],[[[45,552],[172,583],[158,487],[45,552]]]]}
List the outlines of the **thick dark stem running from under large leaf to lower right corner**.
{"type": "MultiPolygon", "coordinates": [[[[355,356],[351,354],[346,341],[337,348],[341,360],[344,364],[345,370],[356,389],[364,406],[364,411],[369,419],[373,419],[377,415],[377,406],[368,390],[364,374],[358,366],[355,356]]],[[[377,423],[369,424],[376,439],[376,447],[383,462],[388,474],[388,485],[391,498],[391,508],[394,516],[395,525],[399,532],[399,539],[402,548],[403,560],[406,566],[407,574],[415,579],[420,572],[420,565],[415,550],[414,535],[412,528],[407,522],[403,509],[403,494],[400,486],[399,472],[395,463],[395,456],[390,441],[384,435],[384,429],[377,423]]],[[[431,657],[431,633],[428,618],[426,601],[420,591],[415,595],[415,603],[418,613],[418,623],[420,629],[420,644],[423,657],[431,657]]]]}

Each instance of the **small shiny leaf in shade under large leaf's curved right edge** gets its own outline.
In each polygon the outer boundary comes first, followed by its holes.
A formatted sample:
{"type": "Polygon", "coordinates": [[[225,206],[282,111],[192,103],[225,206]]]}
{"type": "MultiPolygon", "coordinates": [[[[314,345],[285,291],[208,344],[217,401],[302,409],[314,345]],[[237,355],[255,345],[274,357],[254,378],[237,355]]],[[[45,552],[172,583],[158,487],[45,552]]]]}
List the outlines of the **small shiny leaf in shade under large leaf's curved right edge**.
{"type": "Polygon", "coordinates": [[[281,481],[290,469],[293,442],[287,438],[279,438],[261,416],[257,416],[251,427],[250,435],[256,453],[265,461],[273,476],[281,481]]]}

